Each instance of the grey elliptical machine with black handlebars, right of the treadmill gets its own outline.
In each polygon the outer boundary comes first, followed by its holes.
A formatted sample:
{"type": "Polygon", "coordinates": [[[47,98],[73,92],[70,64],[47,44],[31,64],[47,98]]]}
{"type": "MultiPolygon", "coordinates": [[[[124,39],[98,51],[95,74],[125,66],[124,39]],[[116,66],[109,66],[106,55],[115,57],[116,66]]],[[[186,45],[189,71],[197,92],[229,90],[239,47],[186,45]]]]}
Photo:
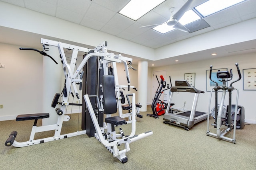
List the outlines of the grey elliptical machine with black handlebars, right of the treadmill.
{"type": "MultiPolygon", "coordinates": [[[[241,79],[241,72],[238,67],[238,63],[236,63],[236,68],[238,72],[239,78],[235,80],[234,82],[237,82],[241,79]]],[[[218,81],[222,82],[222,86],[218,86],[218,83],[214,80],[212,80],[212,65],[210,66],[210,80],[216,84],[214,88],[212,88],[211,94],[210,94],[210,100],[209,100],[209,109],[208,109],[208,118],[207,118],[207,136],[217,137],[218,139],[223,139],[225,141],[229,141],[232,143],[236,143],[236,128],[237,123],[240,125],[240,129],[243,129],[244,127],[244,107],[238,105],[238,96],[239,91],[238,89],[234,88],[232,85],[234,82],[230,83],[230,86],[227,86],[227,82],[232,80],[233,74],[232,69],[230,69],[230,72],[228,71],[220,71],[216,73],[218,81]],[[211,133],[209,130],[209,118],[210,118],[210,104],[211,104],[211,98],[212,98],[212,92],[215,91],[215,121],[214,121],[214,128],[216,128],[216,134],[211,133]],[[218,91],[222,90],[222,97],[220,106],[218,107],[218,91]],[[232,91],[236,90],[236,104],[232,105],[232,91]],[[227,112],[225,118],[222,117],[222,110],[224,106],[224,100],[226,96],[226,92],[228,91],[228,106],[227,106],[227,112]],[[240,118],[240,119],[238,119],[240,118]],[[223,126],[222,126],[223,125],[223,126]],[[227,128],[225,129],[225,126],[227,128]],[[222,130],[222,131],[221,131],[222,130]],[[233,130],[233,138],[225,137],[229,131],[233,130]]]]}

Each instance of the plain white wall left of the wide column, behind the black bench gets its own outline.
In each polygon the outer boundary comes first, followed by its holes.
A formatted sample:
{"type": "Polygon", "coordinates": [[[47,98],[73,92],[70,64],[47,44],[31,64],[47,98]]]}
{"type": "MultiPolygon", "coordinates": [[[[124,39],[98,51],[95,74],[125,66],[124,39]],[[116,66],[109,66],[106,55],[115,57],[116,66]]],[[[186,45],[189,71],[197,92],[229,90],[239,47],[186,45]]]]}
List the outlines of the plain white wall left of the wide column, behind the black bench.
{"type": "Polygon", "coordinates": [[[0,63],[5,64],[0,68],[0,120],[42,111],[42,55],[7,44],[0,44],[0,51],[0,63]]]}

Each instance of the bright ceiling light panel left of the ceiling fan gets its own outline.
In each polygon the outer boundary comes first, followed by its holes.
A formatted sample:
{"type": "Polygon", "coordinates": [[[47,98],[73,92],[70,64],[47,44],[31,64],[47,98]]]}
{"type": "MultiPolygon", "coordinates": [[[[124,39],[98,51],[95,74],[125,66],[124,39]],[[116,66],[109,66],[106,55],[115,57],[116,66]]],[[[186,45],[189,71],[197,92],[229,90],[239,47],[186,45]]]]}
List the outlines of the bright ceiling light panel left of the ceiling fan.
{"type": "Polygon", "coordinates": [[[164,1],[165,0],[131,0],[118,13],[136,21],[164,1]]]}

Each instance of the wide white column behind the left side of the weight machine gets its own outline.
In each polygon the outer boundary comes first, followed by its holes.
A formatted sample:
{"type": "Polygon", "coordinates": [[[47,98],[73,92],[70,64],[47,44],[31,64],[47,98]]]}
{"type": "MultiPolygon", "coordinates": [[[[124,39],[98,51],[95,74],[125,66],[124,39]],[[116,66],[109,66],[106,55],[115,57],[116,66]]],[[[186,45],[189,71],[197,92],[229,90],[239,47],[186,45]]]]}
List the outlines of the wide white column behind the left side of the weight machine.
{"type": "Polygon", "coordinates": [[[58,64],[54,63],[50,57],[43,56],[43,112],[50,113],[50,117],[42,119],[42,125],[52,125],[57,123],[58,115],[53,108],[52,100],[56,93],[60,93],[62,83],[62,63],[58,47],[46,46],[49,51],[45,51],[48,55],[52,56],[58,64]]]}

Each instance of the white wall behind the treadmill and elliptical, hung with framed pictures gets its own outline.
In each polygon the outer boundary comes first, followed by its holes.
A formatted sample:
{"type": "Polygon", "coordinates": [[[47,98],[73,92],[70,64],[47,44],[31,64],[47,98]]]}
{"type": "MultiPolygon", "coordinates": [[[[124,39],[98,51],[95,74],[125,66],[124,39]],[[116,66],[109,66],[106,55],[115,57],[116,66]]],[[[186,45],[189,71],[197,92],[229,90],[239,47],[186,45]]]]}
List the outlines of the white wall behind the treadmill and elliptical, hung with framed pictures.
{"type": "MultiPolygon", "coordinates": [[[[210,60],[185,63],[185,64],[175,64],[164,67],[156,67],[152,69],[153,71],[157,70],[166,70],[167,76],[171,76],[172,85],[174,86],[175,80],[184,79],[185,73],[196,73],[195,78],[195,87],[199,90],[205,91],[204,94],[199,95],[197,110],[198,111],[208,111],[208,103],[210,98],[210,92],[206,92],[206,70],[210,69],[210,65],[213,65],[213,69],[218,68],[232,68],[233,70],[233,80],[238,78],[238,73],[236,71],[235,63],[239,63],[239,68],[243,76],[243,69],[255,68],[256,63],[256,53],[236,55],[225,58],[213,58],[210,60]]],[[[232,81],[232,80],[231,80],[232,81]]],[[[230,82],[229,82],[230,83],[230,82]]],[[[245,119],[248,123],[256,123],[256,110],[254,107],[254,98],[256,96],[256,91],[243,90],[243,78],[234,83],[233,86],[240,91],[239,95],[239,105],[244,106],[245,108],[245,119]]],[[[151,88],[152,90],[152,88],[151,88]]],[[[235,101],[236,92],[233,93],[233,102],[235,101]]],[[[214,94],[213,94],[214,96],[214,94]]],[[[190,109],[192,106],[194,94],[189,93],[174,93],[172,98],[172,103],[175,103],[175,108],[183,108],[184,102],[186,102],[185,109],[190,109]]],[[[220,100],[219,100],[220,102],[220,100]]],[[[210,108],[214,107],[214,99],[212,99],[212,105],[210,108]]],[[[228,98],[226,98],[226,104],[228,104],[228,98]]]]}

